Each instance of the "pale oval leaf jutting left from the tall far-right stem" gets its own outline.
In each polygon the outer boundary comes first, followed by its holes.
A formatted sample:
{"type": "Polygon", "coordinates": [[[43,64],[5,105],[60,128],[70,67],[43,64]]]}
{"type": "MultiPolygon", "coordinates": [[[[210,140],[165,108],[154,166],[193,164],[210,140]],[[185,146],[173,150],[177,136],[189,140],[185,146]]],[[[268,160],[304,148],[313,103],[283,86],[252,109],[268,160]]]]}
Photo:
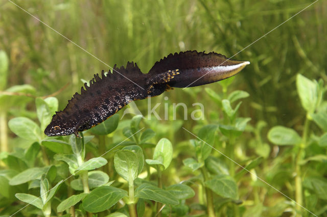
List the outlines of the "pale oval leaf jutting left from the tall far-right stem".
{"type": "Polygon", "coordinates": [[[284,126],[275,126],[268,132],[268,139],[276,145],[296,145],[301,143],[301,138],[294,129],[284,126]]]}

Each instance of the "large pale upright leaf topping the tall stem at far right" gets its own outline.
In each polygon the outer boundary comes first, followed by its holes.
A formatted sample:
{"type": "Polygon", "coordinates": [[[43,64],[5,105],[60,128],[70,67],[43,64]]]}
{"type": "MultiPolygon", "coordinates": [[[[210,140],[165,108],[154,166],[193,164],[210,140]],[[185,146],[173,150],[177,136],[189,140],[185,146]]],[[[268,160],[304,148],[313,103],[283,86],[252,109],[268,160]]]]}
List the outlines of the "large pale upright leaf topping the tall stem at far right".
{"type": "Polygon", "coordinates": [[[318,84],[305,76],[297,74],[296,88],[303,108],[309,113],[314,113],[318,101],[318,84]]]}

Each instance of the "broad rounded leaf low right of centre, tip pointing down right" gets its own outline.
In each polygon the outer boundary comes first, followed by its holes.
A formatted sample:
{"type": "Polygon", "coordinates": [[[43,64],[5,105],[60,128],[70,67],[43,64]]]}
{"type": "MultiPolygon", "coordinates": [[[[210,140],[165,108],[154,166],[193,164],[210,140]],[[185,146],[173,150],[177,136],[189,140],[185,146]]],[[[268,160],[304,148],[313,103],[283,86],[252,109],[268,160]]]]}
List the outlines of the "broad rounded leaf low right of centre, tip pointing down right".
{"type": "Polygon", "coordinates": [[[212,189],[217,195],[237,200],[237,184],[227,175],[216,175],[205,181],[205,186],[212,189]]]}

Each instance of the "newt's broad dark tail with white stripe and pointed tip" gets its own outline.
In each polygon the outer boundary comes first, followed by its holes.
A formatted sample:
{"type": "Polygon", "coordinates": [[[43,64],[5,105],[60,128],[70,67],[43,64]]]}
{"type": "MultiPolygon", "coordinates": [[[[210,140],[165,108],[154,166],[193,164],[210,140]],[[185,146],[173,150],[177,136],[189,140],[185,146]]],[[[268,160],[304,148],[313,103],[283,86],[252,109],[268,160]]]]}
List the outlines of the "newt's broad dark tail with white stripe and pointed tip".
{"type": "Polygon", "coordinates": [[[180,74],[167,84],[170,87],[185,88],[205,85],[237,74],[248,61],[230,60],[215,52],[186,51],[169,55],[156,62],[149,75],[179,69],[180,74]]]}

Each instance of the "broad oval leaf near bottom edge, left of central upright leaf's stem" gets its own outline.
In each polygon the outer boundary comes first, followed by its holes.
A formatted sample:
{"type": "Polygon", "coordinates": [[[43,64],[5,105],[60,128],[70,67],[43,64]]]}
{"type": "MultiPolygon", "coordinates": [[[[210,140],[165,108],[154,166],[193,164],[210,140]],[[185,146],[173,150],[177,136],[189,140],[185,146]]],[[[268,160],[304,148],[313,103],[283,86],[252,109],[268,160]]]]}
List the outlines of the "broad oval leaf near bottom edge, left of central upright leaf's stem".
{"type": "Polygon", "coordinates": [[[112,186],[101,186],[83,199],[83,207],[88,212],[101,212],[109,209],[123,197],[127,197],[126,191],[112,186]]]}

